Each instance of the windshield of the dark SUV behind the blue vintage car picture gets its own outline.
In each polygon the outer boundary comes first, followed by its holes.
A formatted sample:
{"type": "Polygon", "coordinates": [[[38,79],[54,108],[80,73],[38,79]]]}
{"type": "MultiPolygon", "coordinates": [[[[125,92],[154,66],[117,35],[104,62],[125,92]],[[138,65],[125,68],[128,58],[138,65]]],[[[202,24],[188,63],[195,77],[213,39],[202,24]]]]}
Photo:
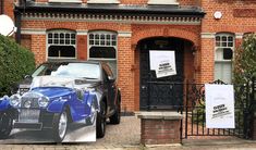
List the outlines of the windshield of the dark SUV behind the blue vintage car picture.
{"type": "Polygon", "coordinates": [[[45,75],[99,79],[100,68],[98,64],[94,63],[48,63],[40,65],[32,77],[45,75]]]}

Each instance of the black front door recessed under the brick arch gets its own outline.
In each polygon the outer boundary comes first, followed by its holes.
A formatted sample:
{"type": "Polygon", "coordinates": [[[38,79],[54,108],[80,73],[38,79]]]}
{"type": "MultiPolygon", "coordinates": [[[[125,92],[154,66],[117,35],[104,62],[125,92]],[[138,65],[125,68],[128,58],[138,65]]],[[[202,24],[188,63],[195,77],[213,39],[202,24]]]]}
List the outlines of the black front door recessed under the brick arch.
{"type": "Polygon", "coordinates": [[[150,38],[139,42],[141,110],[175,109],[183,101],[183,49],[179,38],[150,38]],[[150,71],[149,50],[174,51],[176,75],[157,78],[150,71]]]}

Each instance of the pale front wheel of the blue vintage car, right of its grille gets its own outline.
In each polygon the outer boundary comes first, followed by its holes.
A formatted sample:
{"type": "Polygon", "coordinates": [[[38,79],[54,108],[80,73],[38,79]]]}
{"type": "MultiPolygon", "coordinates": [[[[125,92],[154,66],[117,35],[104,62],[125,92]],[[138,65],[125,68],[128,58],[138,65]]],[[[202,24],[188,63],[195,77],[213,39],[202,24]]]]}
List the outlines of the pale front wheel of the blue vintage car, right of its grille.
{"type": "Polygon", "coordinates": [[[63,111],[62,113],[56,113],[53,115],[53,123],[52,123],[53,139],[56,142],[61,142],[64,139],[66,128],[68,128],[66,111],[63,111]]]}

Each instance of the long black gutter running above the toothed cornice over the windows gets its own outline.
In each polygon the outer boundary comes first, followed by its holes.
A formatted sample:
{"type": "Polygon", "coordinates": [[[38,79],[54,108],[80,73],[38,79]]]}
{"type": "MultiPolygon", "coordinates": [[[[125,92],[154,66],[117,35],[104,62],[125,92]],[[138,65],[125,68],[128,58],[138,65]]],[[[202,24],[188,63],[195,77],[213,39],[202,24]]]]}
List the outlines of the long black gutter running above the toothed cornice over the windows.
{"type": "MultiPolygon", "coordinates": [[[[23,11],[24,7],[17,5],[15,9],[23,11]]],[[[161,7],[146,7],[146,8],[137,8],[137,7],[117,7],[111,4],[36,4],[36,3],[27,3],[26,12],[59,12],[59,13],[87,13],[87,14],[126,14],[126,15],[166,15],[166,16],[197,16],[204,17],[205,12],[199,10],[198,8],[191,9],[170,9],[170,8],[161,8],[161,7]]]]}

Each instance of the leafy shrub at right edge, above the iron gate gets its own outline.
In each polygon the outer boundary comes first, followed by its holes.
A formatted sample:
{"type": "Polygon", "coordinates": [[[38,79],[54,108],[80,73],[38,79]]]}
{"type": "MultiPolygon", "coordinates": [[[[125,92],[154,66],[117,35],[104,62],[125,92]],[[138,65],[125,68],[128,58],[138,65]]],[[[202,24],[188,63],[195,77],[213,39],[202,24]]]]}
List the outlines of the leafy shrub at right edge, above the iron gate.
{"type": "Polygon", "coordinates": [[[256,76],[256,34],[247,35],[235,52],[234,83],[246,84],[256,76]]]}

